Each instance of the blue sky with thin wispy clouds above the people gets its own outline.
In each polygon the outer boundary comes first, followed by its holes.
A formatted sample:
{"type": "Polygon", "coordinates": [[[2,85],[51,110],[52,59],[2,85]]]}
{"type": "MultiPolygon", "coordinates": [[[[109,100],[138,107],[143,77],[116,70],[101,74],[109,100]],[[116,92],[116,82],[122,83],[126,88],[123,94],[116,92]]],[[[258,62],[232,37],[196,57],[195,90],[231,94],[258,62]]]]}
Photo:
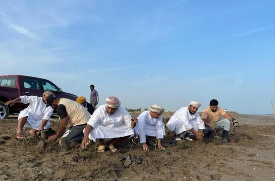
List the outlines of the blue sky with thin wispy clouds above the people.
{"type": "Polygon", "coordinates": [[[272,113],[274,0],[3,0],[0,74],[50,79],[100,105],[272,113]]]}

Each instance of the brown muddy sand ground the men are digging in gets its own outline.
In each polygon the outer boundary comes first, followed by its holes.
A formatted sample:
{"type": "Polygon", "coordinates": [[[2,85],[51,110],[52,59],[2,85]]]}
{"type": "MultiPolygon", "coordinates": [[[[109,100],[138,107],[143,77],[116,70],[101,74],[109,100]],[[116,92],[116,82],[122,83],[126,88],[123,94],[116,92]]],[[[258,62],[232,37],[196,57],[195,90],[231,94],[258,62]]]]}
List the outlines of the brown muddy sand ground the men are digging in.
{"type": "MultiPolygon", "coordinates": [[[[241,126],[226,144],[207,138],[175,144],[166,130],[166,152],[155,146],[130,150],[131,141],[125,141],[115,145],[116,153],[95,153],[95,144],[82,149],[75,143],[63,151],[27,129],[26,139],[18,141],[15,116],[0,121],[0,181],[274,181],[275,117],[233,117],[241,126]]],[[[57,130],[57,121],[52,128],[57,130]]]]}

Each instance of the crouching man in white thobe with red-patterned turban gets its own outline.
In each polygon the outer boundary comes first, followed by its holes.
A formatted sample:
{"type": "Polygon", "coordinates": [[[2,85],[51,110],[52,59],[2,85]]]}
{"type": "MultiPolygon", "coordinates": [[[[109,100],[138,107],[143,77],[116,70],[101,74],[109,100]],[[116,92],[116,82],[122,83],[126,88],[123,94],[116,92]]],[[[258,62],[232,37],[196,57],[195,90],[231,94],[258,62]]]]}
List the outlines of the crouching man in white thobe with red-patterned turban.
{"type": "Polygon", "coordinates": [[[113,144],[133,136],[136,123],[137,119],[132,118],[129,112],[120,106],[116,97],[108,97],[106,105],[98,107],[89,119],[81,146],[85,148],[89,139],[94,142],[99,140],[98,152],[104,152],[104,139],[111,139],[107,146],[115,152],[117,149],[113,144]]]}

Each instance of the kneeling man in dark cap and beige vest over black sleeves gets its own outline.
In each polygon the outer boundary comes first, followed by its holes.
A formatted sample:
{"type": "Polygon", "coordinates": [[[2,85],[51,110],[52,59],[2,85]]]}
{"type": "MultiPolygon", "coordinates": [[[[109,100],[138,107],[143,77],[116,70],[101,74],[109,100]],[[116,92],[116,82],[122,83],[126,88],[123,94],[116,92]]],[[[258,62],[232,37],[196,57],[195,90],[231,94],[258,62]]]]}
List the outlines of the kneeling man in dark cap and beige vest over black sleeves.
{"type": "Polygon", "coordinates": [[[62,135],[60,144],[66,146],[72,142],[81,142],[83,139],[83,129],[85,128],[91,114],[83,106],[75,101],[66,98],[57,98],[51,95],[47,98],[47,107],[56,108],[56,113],[60,119],[60,126],[57,133],[48,140],[55,141],[62,135]]]}

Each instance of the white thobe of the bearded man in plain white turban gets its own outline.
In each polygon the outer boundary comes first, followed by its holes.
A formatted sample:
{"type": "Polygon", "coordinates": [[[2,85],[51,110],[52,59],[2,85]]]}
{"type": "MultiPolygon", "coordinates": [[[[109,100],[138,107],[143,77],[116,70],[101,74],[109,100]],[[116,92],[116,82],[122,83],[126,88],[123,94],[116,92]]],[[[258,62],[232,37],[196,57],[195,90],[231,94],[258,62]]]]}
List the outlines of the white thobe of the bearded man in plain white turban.
{"type": "Polygon", "coordinates": [[[192,128],[196,131],[205,128],[199,113],[191,114],[188,107],[178,109],[169,119],[166,127],[170,131],[174,131],[177,135],[192,128]]]}

